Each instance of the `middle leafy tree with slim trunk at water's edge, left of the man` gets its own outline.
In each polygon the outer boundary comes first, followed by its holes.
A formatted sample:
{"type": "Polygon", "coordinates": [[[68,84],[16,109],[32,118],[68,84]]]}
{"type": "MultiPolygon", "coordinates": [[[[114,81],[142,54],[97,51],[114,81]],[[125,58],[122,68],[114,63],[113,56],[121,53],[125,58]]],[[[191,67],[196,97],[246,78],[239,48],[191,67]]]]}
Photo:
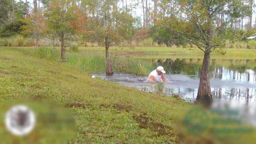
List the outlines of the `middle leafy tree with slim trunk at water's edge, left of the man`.
{"type": "Polygon", "coordinates": [[[93,0],[93,3],[89,1],[82,3],[83,7],[88,7],[88,12],[86,13],[90,13],[91,10],[93,11],[92,17],[88,19],[88,32],[105,46],[106,75],[113,74],[108,52],[110,46],[120,46],[124,43],[129,46],[131,41],[138,41],[146,36],[143,29],[138,30],[134,27],[137,21],[134,20],[132,15],[117,10],[117,2],[117,0],[107,0],[104,2],[93,0]],[[96,16],[94,16],[95,11],[96,16]]]}

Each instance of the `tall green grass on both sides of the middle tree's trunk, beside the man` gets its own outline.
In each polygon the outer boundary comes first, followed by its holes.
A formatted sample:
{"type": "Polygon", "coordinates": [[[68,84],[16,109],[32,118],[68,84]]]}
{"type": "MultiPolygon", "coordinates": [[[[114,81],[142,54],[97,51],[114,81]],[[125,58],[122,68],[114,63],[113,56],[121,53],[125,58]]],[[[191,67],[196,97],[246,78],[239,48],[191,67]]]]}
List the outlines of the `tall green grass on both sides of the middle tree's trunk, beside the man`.
{"type": "MultiPolygon", "coordinates": [[[[79,54],[67,53],[66,59],[69,64],[89,73],[105,73],[106,57],[104,54],[79,54]]],[[[156,66],[141,59],[128,57],[111,57],[113,72],[127,73],[140,76],[147,76],[156,66]]]]}

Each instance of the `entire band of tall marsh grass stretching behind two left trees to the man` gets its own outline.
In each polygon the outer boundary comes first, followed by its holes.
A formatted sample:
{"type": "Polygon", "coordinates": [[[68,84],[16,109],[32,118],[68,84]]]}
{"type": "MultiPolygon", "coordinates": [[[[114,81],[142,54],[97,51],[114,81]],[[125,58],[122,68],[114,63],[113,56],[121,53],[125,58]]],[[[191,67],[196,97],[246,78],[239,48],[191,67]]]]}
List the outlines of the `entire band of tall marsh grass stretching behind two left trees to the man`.
{"type": "MultiPolygon", "coordinates": [[[[54,51],[52,47],[39,47],[38,51],[26,50],[26,54],[51,61],[60,59],[60,52],[54,51]]],[[[111,55],[112,69],[115,73],[127,73],[138,76],[147,76],[156,65],[142,59],[132,59],[125,56],[111,55]]],[[[67,63],[88,73],[102,74],[106,72],[106,57],[104,54],[81,54],[66,52],[67,63]]]]}

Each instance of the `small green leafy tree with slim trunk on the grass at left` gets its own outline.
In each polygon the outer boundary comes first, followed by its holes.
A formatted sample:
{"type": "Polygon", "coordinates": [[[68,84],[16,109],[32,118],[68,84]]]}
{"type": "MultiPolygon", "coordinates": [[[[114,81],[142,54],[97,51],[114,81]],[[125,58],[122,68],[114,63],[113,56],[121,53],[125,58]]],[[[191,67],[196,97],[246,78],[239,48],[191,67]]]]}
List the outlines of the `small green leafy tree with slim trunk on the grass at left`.
{"type": "Polygon", "coordinates": [[[54,34],[61,42],[61,61],[66,62],[66,46],[73,38],[76,28],[71,21],[75,20],[76,5],[72,1],[53,0],[49,2],[49,9],[45,12],[46,33],[54,34]]]}

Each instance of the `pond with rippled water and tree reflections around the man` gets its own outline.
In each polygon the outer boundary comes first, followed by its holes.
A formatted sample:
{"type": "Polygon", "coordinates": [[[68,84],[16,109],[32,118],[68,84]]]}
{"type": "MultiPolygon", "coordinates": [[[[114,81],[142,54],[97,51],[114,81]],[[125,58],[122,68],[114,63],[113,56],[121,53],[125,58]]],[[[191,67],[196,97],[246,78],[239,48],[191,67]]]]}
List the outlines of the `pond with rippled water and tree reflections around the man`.
{"type": "MultiPolygon", "coordinates": [[[[164,84],[164,94],[179,94],[182,99],[196,99],[203,59],[145,59],[163,66],[168,82],[164,84]]],[[[218,60],[210,63],[210,85],[214,99],[228,100],[238,104],[256,106],[256,60],[218,60]]],[[[105,80],[143,91],[152,91],[146,83],[148,76],[114,74],[99,76],[105,80]]]]}

